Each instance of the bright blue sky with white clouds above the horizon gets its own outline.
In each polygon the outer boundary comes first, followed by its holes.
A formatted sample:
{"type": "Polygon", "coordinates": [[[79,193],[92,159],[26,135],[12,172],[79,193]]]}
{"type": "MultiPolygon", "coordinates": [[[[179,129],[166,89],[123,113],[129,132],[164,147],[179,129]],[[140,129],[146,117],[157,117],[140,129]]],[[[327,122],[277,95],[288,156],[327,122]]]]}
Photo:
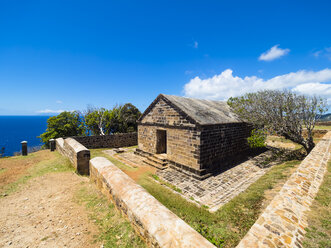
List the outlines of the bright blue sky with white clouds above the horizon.
{"type": "Polygon", "coordinates": [[[290,88],[331,100],[331,1],[0,0],[0,115],[290,88]]]}

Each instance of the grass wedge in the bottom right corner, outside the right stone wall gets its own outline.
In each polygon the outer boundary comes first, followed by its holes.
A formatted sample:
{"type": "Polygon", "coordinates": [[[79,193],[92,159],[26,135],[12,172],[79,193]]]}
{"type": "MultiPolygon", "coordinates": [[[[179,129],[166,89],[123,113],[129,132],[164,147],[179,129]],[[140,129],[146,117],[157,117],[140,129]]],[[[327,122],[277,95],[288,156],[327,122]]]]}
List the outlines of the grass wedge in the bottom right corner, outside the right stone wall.
{"type": "Polygon", "coordinates": [[[303,240],[303,246],[306,248],[331,247],[331,161],[327,169],[309,212],[309,226],[303,240]]]}

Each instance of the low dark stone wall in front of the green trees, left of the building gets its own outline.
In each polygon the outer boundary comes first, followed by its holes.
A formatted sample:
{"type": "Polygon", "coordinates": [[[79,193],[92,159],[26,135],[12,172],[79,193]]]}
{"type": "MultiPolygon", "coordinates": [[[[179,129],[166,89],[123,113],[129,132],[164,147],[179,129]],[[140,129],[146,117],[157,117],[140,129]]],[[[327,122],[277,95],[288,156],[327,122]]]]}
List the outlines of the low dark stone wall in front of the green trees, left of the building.
{"type": "Polygon", "coordinates": [[[71,137],[88,149],[94,148],[118,148],[135,146],[138,144],[137,133],[118,133],[97,136],[74,136],[71,137]]]}

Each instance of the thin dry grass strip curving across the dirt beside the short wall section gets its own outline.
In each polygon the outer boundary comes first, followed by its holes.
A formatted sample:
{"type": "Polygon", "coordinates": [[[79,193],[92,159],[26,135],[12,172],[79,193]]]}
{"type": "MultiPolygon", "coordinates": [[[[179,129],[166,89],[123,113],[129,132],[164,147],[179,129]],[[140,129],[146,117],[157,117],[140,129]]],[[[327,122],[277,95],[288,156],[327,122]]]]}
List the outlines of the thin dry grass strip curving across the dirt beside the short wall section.
{"type": "MultiPolygon", "coordinates": [[[[37,153],[37,152],[36,152],[37,153]]],[[[29,155],[29,156],[37,156],[36,153],[34,155],[29,155]]],[[[27,157],[14,157],[10,159],[26,159],[27,157]]],[[[20,177],[18,180],[16,180],[13,183],[7,184],[3,192],[5,195],[12,194],[18,190],[18,188],[21,185],[24,185],[27,183],[30,179],[36,178],[43,176],[47,173],[52,173],[52,172],[65,172],[65,171],[74,171],[74,168],[71,166],[70,161],[61,156],[59,153],[55,152],[54,153],[54,158],[50,160],[43,160],[36,165],[32,166],[31,168],[28,169],[27,173],[20,177]]]]}

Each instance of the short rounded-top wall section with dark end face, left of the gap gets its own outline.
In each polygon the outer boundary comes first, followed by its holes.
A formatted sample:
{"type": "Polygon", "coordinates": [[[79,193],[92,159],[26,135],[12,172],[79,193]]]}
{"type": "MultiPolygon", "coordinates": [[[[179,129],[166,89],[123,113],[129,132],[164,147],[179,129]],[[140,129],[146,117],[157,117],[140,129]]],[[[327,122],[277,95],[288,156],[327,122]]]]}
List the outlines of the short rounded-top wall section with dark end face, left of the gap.
{"type": "Polygon", "coordinates": [[[90,150],[72,138],[56,139],[56,150],[69,158],[79,174],[89,174],[90,150]]]}

